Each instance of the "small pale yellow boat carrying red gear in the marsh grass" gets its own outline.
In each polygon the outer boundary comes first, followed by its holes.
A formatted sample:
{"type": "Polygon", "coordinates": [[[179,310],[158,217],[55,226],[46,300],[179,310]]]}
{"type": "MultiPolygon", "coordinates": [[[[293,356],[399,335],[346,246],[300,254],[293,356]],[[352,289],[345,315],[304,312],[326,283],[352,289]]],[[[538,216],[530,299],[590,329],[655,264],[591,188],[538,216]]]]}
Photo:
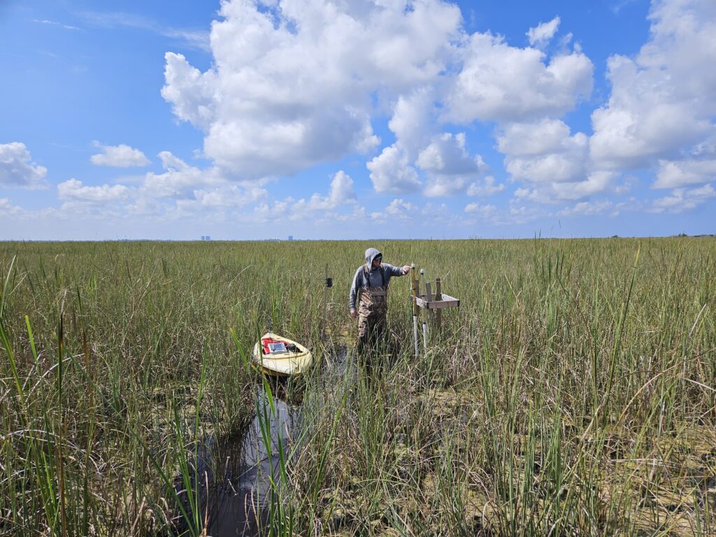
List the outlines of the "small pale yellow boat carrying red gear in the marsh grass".
{"type": "Polygon", "coordinates": [[[311,367],[313,354],[300,343],[266,332],[253,346],[253,363],[266,374],[289,377],[311,367]]]}

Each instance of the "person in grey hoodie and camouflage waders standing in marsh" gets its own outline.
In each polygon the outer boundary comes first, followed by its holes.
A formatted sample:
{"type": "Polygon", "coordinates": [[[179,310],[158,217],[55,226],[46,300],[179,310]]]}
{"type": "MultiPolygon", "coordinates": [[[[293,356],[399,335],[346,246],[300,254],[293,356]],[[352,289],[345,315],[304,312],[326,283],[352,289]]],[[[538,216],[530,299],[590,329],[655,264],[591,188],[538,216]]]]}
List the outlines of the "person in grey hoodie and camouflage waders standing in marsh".
{"type": "Polygon", "coordinates": [[[365,264],[358,267],[349,296],[352,317],[358,317],[358,348],[375,347],[385,328],[388,284],[392,276],[405,276],[410,266],[383,263],[376,248],[365,251],[365,264]]]}

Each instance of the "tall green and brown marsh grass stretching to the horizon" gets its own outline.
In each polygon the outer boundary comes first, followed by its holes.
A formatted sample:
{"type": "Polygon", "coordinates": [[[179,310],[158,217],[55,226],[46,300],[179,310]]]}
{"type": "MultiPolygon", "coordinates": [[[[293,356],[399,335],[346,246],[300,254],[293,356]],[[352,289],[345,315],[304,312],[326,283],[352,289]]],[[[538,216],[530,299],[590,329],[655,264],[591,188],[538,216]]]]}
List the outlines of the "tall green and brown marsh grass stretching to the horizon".
{"type": "Polygon", "coordinates": [[[267,533],[716,533],[712,238],[1,243],[0,269],[1,535],[202,533],[200,443],[275,412],[245,364],[269,316],[316,366],[267,533]],[[415,357],[392,281],[369,369],[367,246],[461,300],[415,357]]]}

